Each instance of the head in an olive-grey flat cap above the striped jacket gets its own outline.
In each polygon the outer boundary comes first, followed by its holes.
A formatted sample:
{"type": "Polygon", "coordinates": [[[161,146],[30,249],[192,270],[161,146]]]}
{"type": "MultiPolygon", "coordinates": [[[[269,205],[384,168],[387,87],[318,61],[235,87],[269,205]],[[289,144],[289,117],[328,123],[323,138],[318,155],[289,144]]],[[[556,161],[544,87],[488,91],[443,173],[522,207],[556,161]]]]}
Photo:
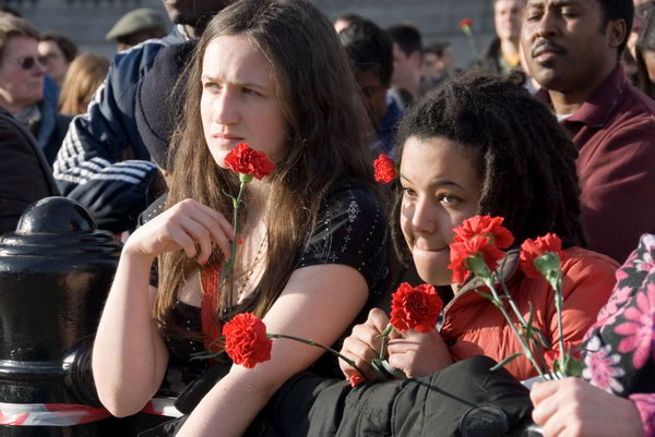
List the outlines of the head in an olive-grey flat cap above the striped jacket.
{"type": "Polygon", "coordinates": [[[139,8],[124,14],[105,36],[107,41],[117,43],[117,51],[151,38],[163,38],[167,24],[164,17],[148,8],[139,8]]]}

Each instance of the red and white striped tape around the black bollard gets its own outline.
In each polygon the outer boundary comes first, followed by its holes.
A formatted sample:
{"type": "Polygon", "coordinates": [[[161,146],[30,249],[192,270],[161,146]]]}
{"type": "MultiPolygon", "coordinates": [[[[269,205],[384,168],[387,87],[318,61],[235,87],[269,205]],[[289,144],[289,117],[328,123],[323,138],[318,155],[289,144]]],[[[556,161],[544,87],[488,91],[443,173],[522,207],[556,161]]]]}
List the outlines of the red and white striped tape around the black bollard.
{"type": "MultiPolygon", "coordinates": [[[[154,398],[143,413],[180,417],[175,398],[154,398]]],[[[74,426],[110,417],[104,408],[72,403],[5,403],[0,402],[0,425],[11,426],[74,426]]]]}

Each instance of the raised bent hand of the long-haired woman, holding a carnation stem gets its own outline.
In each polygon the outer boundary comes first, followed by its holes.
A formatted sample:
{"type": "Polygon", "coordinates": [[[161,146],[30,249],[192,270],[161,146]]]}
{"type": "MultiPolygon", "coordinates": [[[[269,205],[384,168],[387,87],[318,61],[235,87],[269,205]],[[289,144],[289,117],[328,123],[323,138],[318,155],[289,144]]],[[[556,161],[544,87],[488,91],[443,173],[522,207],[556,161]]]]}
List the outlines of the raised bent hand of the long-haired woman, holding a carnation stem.
{"type": "Polygon", "coordinates": [[[205,264],[214,244],[229,257],[231,232],[231,224],[221,213],[184,199],[139,228],[123,251],[152,263],[163,253],[182,250],[205,264]]]}

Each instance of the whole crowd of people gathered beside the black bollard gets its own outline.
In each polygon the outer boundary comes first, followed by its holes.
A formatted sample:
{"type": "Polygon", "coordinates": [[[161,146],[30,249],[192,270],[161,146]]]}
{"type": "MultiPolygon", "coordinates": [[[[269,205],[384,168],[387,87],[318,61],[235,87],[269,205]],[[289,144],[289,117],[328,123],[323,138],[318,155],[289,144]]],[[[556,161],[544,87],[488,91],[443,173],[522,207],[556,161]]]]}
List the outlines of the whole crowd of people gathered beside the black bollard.
{"type": "Polygon", "coordinates": [[[0,234],[64,195],[124,242],[93,343],[104,408],[177,397],[184,415],[142,436],[471,435],[475,405],[502,418],[489,436],[655,436],[655,2],[493,0],[497,36],[463,69],[412,24],[332,23],[307,0],[164,5],[172,29],[128,13],[111,61],[0,12],[0,234]],[[234,174],[242,143],[270,175],[234,174]],[[581,377],[528,390],[525,356],[489,369],[521,344],[484,282],[452,279],[474,216],[503,217],[513,311],[581,377]],[[563,331],[548,282],[519,268],[547,233],[563,331]],[[404,281],[445,307],[386,342],[404,281]],[[242,313],[350,362],[276,341],[234,364],[216,344],[242,313]],[[381,351],[406,379],[374,381],[381,351]]]}

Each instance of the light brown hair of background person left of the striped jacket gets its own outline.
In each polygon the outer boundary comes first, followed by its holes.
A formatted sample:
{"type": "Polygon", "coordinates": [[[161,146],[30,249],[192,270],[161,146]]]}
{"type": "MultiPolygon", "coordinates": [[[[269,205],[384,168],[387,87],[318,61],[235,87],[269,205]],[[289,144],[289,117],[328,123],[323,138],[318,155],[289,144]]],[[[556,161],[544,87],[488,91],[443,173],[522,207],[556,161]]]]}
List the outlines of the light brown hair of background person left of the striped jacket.
{"type": "Polygon", "coordinates": [[[59,112],[85,113],[93,94],[103,84],[109,60],[95,53],[82,53],[69,66],[59,96],[59,112]]]}

